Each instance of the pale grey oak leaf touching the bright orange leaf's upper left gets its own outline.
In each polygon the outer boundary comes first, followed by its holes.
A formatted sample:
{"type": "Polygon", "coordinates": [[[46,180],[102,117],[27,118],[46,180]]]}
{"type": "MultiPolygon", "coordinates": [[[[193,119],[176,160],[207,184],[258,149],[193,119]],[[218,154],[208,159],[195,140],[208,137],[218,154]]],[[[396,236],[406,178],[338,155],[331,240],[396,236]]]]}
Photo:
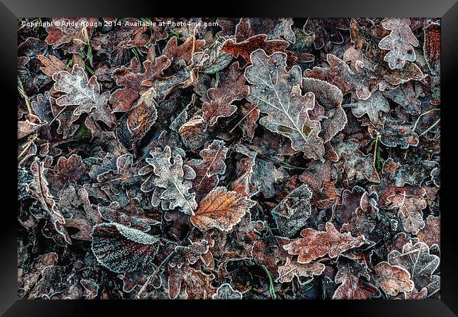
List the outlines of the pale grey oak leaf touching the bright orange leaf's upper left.
{"type": "MultiPolygon", "coordinates": [[[[195,194],[190,194],[192,182],[185,180],[182,157],[176,154],[172,159],[171,148],[166,146],[163,151],[158,147],[150,151],[151,158],[146,159],[150,166],[153,166],[154,175],[145,180],[142,190],[152,189],[154,185],[153,199],[159,199],[163,209],[175,209],[180,207],[187,215],[194,214],[197,208],[195,194]]],[[[150,168],[150,167],[146,167],[150,168]]],[[[144,168],[142,168],[144,170],[144,168]]],[[[140,175],[142,175],[140,170],[140,175]]],[[[195,175],[195,173],[194,173],[195,175]]],[[[157,206],[151,199],[151,204],[157,206]]]]}

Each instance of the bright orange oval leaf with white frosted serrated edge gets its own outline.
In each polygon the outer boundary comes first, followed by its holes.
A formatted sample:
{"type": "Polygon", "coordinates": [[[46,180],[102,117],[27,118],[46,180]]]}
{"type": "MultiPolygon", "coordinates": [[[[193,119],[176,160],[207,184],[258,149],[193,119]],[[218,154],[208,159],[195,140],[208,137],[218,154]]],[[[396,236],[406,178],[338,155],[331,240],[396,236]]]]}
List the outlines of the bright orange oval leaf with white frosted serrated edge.
{"type": "Polygon", "coordinates": [[[191,222],[202,231],[217,228],[230,231],[240,222],[255,201],[237,192],[228,192],[225,187],[216,187],[200,201],[191,222]]]}

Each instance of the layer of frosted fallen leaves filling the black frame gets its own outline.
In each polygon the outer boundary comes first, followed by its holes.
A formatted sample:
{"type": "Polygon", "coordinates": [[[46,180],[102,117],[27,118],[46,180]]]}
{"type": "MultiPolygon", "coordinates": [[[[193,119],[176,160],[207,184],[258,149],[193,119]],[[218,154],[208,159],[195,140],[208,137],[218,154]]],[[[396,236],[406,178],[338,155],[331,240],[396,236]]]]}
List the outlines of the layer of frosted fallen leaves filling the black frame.
{"type": "Polygon", "coordinates": [[[440,296],[440,20],[23,20],[20,298],[440,296]]]}

